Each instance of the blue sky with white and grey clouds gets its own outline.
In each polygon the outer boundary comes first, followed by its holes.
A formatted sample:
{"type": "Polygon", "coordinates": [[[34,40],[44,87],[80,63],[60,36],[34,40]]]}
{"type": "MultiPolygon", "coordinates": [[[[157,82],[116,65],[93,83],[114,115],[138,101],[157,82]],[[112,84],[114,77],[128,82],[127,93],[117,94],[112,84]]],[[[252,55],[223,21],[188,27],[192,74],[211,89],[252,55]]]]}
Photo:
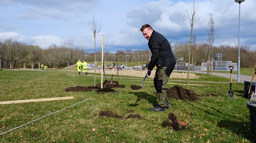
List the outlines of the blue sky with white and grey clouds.
{"type": "MultiPolygon", "coordinates": [[[[240,45],[256,50],[256,1],[240,4],[240,45]]],[[[214,19],[214,46],[238,46],[239,4],[234,0],[196,0],[198,21],[193,27],[197,43],[207,43],[210,14],[214,19]]],[[[39,45],[46,49],[72,40],[94,52],[90,28],[93,16],[101,31],[96,35],[96,50],[148,49],[140,31],[149,24],[171,43],[190,41],[193,0],[0,0],[0,41],[39,45]]]]}

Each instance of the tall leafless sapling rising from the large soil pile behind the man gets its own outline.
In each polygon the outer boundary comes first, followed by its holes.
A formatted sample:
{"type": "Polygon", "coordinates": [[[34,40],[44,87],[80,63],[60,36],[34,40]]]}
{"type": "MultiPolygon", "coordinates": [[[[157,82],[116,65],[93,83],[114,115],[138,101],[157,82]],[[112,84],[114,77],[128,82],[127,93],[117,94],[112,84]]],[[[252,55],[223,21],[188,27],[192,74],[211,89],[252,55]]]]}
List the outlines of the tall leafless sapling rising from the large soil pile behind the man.
{"type": "MultiPolygon", "coordinates": [[[[187,11],[187,9],[186,9],[187,11]]],[[[193,0],[193,10],[190,11],[191,16],[188,14],[187,11],[187,15],[185,15],[188,19],[189,19],[189,23],[190,23],[190,27],[191,27],[191,34],[190,34],[190,46],[189,46],[189,53],[188,53],[188,72],[187,72],[187,89],[188,89],[188,78],[189,78],[189,64],[190,64],[190,48],[192,45],[192,35],[193,35],[193,27],[196,24],[196,22],[198,22],[198,20],[200,19],[200,17],[197,19],[197,14],[198,14],[198,8],[195,8],[195,0],[193,0]]]]}

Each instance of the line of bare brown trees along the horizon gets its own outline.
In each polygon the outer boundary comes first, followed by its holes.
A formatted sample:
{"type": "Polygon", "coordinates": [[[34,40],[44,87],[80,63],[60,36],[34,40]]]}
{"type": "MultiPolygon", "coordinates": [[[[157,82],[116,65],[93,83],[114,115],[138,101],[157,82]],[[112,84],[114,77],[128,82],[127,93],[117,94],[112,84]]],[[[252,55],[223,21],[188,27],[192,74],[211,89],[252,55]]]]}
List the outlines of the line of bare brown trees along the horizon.
{"type": "MultiPolygon", "coordinates": [[[[238,60],[238,47],[229,45],[212,46],[209,54],[208,44],[196,44],[196,38],[193,38],[191,46],[191,62],[196,61],[196,65],[200,66],[203,60],[207,61],[208,57],[214,58],[217,53],[222,54],[222,60],[230,60],[237,62],[238,60]]],[[[183,57],[182,62],[188,62],[188,43],[180,43],[172,45],[172,50],[176,59],[183,57]]],[[[118,62],[125,62],[127,55],[127,62],[149,62],[151,53],[147,50],[119,50],[117,51],[118,62]]],[[[72,40],[66,40],[62,45],[51,45],[47,49],[42,49],[37,45],[27,45],[21,42],[7,39],[0,42],[0,59],[16,59],[18,66],[23,67],[23,63],[37,62],[44,63],[49,68],[62,68],[73,65],[78,59],[85,60],[86,62],[101,61],[101,51],[96,53],[86,52],[85,46],[75,45],[72,40]]],[[[105,54],[104,54],[105,59],[105,54]]],[[[107,61],[116,61],[115,53],[106,53],[107,61]]],[[[217,60],[216,58],[214,58],[217,60]]],[[[250,51],[248,45],[240,46],[240,60],[241,67],[249,68],[254,67],[256,62],[256,51],[250,51]]],[[[181,62],[181,61],[178,61],[181,62]]]]}

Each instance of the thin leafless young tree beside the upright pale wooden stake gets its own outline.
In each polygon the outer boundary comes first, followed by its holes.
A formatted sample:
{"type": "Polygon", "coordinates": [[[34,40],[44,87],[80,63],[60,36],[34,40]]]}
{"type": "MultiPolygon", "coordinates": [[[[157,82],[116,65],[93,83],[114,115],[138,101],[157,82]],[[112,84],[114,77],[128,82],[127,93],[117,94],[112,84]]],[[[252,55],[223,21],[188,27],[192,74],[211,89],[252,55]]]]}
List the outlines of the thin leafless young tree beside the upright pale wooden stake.
{"type": "Polygon", "coordinates": [[[96,84],[96,35],[101,31],[101,24],[97,25],[97,21],[95,21],[94,13],[93,13],[93,21],[92,26],[89,25],[92,29],[93,37],[94,37],[94,56],[95,56],[95,68],[94,68],[94,87],[96,84]]]}

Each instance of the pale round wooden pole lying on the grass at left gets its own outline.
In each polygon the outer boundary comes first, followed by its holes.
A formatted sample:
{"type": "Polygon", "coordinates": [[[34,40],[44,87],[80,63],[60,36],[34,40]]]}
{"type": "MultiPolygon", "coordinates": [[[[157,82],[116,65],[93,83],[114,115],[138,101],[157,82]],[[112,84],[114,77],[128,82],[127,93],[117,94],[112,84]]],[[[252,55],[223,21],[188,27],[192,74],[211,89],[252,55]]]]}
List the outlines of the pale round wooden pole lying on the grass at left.
{"type": "Polygon", "coordinates": [[[0,104],[16,104],[16,103],[42,102],[42,101],[54,101],[54,100],[67,100],[67,99],[74,99],[74,97],[73,96],[68,96],[68,97],[54,97],[54,98],[2,101],[2,102],[0,102],[0,104]]]}

